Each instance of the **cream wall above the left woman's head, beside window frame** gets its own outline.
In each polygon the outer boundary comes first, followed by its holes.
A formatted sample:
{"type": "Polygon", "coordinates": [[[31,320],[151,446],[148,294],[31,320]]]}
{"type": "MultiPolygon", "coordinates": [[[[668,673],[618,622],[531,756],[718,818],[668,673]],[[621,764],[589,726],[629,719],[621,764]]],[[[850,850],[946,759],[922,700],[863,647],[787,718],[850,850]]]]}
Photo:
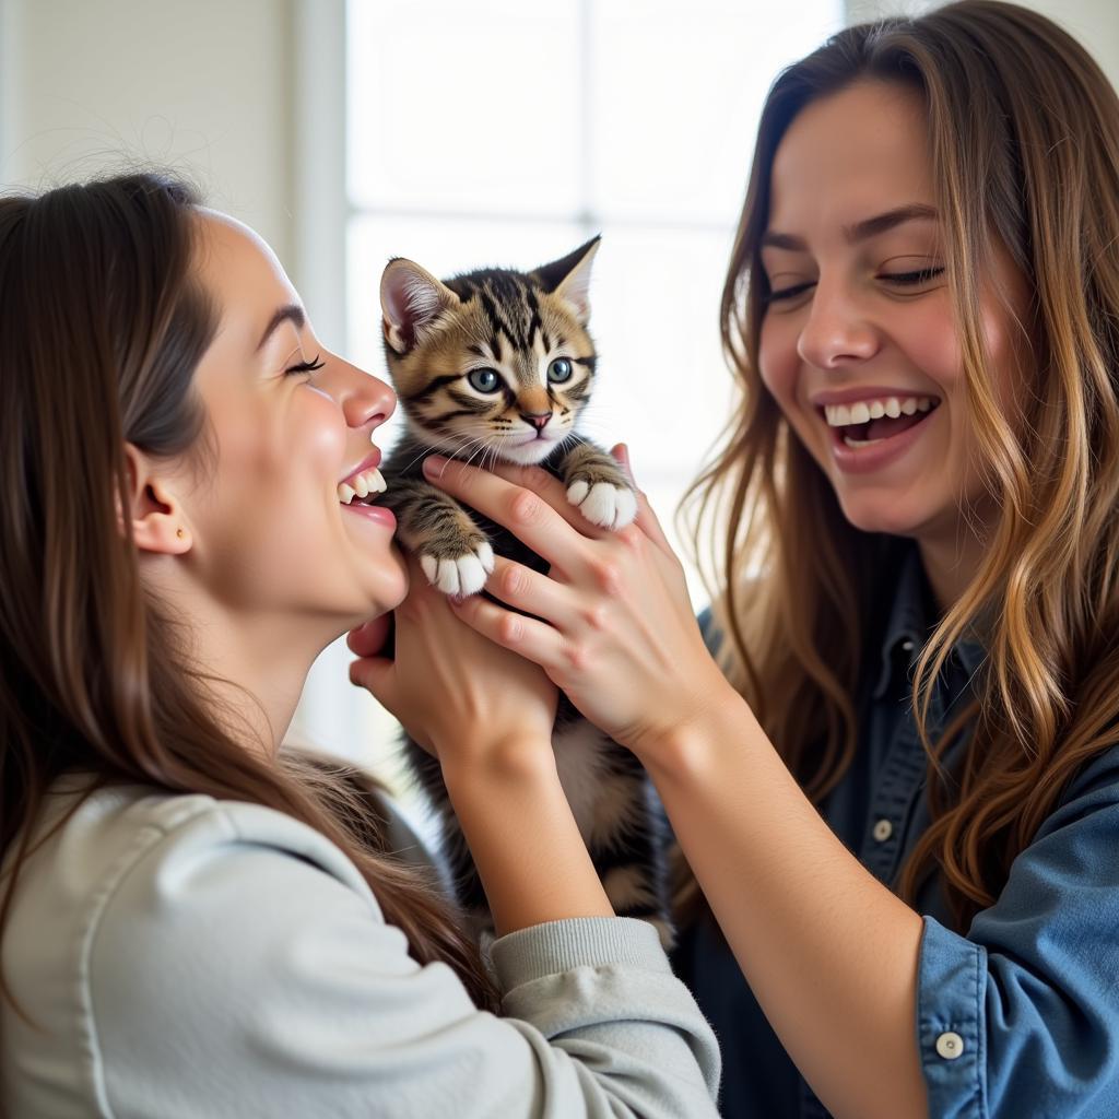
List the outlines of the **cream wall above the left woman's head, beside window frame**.
{"type": "Polygon", "coordinates": [[[182,168],[285,258],[289,0],[0,0],[0,182],[182,168]]]}

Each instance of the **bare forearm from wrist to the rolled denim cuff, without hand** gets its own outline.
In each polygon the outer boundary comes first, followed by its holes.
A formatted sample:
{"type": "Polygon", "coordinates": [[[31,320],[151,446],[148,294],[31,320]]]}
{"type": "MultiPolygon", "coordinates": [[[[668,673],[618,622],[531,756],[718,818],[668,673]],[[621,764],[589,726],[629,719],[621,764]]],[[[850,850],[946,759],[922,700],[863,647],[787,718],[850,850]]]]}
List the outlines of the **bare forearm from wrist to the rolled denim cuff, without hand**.
{"type": "Polygon", "coordinates": [[[925,1116],[921,918],[835,837],[739,697],[641,755],[754,995],[824,1103],[840,1119],[925,1116]]]}

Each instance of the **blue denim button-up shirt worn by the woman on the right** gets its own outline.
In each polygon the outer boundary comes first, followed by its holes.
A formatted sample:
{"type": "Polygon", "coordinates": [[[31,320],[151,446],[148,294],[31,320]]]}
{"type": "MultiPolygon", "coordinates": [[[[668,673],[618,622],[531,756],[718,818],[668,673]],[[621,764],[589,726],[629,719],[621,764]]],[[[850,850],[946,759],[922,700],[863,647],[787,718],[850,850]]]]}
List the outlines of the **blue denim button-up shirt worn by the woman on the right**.
{"type": "MultiPolygon", "coordinates": [[[[910,671],[930,632],[928,601],[914,551],[896,580],[881,666],[861,696],[858,752],[820,806],[848,849],[890,886],[930,822],[927,755],[910,702],[910,671]]],[[[700,622],[708,645],[717,645],[709,615],[700,622]]],[[[930,711],[932,741],[971,698],[982,660],[976,643],[952,650],[930,711]]],[[[913,1028],[930,1119],[1117,1119],[1119,747],[1073,780],[970,928],[955,929],[939,877],[916,909],[924,931],[913,1028]]],[[[709,921],[683,935],[674,965],[720,1038],[724,1116],[828,1116],[709,921]]]]}

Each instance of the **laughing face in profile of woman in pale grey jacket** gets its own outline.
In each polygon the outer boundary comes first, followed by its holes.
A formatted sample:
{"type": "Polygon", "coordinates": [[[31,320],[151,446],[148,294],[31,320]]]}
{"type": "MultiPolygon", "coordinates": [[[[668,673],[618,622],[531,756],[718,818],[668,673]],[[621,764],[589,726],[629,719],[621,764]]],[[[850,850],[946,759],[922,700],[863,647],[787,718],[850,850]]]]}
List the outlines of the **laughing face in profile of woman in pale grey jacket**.
{"type": "Polygon", "coordinates": [[[185,505],[194,576],[239,620],[341,632],[407,587],[393,515],[339,497],[379,462],[372,436],[395,397],[318,342],[252,231],[209,211],[198,225],[198,270],[220,322],[195,377],[216,457],[185,505]]]}

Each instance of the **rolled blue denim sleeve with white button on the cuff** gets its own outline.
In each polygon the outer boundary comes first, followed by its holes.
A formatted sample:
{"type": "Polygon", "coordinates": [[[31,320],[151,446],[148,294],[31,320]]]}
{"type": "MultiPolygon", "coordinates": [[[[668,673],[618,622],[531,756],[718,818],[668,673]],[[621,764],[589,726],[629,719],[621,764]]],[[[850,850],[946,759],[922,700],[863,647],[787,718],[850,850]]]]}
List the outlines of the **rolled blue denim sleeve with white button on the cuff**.
{"type": "Polygon", "coordinates": [[[916,1032],[930,1119],[1119,1116],[1119,751],[966,937],[924,919],[916,1032]]]}

